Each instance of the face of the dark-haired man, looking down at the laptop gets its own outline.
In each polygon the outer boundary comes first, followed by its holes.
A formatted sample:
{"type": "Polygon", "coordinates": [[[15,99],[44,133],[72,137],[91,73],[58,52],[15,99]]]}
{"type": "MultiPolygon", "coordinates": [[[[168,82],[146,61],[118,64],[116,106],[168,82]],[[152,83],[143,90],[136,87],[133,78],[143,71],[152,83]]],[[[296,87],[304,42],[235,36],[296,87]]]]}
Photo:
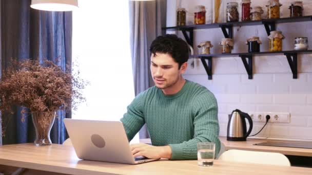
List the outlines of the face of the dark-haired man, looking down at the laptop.
{"type": "Polygon", "coordinates": [[[181,74],[185,72],[184,64],[179,70],[178,62],[175,62],[169,54],[151,54],[150,71],[155,86],[162,90],[173,88],[180,80],[181,74]]]}

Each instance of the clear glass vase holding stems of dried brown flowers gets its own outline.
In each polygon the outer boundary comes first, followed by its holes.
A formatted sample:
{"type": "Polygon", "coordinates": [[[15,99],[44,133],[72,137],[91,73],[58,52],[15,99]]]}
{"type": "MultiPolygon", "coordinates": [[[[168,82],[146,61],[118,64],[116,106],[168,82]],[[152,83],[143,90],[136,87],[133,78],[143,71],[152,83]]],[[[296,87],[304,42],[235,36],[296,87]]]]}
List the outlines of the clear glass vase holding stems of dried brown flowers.
{"type": "Polygon", "coordinates": [[[32,112],[31,118],[36,131],[35,145],[51,145],[50,131],[56,112],[32,112]]]}

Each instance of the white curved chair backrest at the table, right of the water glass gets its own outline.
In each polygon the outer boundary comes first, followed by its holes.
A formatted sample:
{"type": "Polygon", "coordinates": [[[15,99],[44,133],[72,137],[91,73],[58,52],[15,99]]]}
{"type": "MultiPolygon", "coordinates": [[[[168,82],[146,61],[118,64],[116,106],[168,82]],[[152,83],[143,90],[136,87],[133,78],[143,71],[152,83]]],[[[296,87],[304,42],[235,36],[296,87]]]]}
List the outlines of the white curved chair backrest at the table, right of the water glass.
{"type": "Polygon", "coordinates": [[[223,152],[223,154],[219,157],[219,160],[290,166],[288,158],[277,152],[231,149],[223,152]]]}

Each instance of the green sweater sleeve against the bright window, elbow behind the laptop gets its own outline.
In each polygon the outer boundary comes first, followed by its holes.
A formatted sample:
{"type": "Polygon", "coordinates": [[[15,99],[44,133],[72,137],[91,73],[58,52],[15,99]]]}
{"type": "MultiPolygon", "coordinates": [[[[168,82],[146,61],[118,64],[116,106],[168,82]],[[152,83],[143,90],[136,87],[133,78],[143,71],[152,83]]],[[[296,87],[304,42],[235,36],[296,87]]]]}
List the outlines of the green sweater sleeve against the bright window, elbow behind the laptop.
{"type": "Polygon", "coordinates": [[[144,93],[136,96],[130,105],[127,106],[127,113],[120,120],[125,128],[128,140],[131,141],[136,133],[139,132],[144,125],[143,104],[144,93]]]}

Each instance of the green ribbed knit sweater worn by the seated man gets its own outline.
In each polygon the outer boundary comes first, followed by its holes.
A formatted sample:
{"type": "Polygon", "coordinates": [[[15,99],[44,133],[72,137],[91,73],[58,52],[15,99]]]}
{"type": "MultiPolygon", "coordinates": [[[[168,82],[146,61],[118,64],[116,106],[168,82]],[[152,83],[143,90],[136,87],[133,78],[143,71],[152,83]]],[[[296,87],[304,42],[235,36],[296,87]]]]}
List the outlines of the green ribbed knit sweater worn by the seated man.
{"type": "Polygon", "coordinates": [[[204,86],[188,80],[174,95],[164,95],[156,86],[142,92],[121,121],[128,140],[146,123],[152,145],[169,145],[171,160],[197,159],[198,142],[216,143],[216,155],[220,150],[217,100],[204,86]]]}

